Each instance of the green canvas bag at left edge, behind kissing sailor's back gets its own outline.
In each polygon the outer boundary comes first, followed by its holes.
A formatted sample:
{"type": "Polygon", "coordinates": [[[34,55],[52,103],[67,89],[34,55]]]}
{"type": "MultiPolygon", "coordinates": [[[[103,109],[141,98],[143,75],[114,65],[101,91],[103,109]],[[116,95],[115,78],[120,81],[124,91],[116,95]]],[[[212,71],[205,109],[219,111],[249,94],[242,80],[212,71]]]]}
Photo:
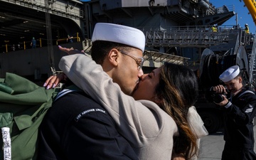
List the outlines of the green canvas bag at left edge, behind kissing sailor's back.
{"type": "MultiPolygon", "coordinates": [[[[38,127],[53,102],[55,89],[46,90],[12,73],[0,78],[0,84],[0,128],[10,128],[11,159],[36,159],[38,127]]],[[[2,149],[0,159],[4,159],[2,149]]]]}

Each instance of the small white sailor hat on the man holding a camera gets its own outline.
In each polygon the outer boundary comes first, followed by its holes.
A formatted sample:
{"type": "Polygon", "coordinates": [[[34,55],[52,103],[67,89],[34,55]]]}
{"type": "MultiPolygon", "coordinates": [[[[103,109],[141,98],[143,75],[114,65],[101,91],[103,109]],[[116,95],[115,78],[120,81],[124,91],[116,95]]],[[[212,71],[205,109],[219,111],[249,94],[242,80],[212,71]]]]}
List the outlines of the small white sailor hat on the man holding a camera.
{"type": "Polygon", "coordinates": [[[230,80],[233,80],[236,78],[240,73],[240,69],[238,65],[233,65],[232,67],[228,68],[225,70],[221,75],[220,75],[220,80],[223,82],[228,82],[230,80]]]}

